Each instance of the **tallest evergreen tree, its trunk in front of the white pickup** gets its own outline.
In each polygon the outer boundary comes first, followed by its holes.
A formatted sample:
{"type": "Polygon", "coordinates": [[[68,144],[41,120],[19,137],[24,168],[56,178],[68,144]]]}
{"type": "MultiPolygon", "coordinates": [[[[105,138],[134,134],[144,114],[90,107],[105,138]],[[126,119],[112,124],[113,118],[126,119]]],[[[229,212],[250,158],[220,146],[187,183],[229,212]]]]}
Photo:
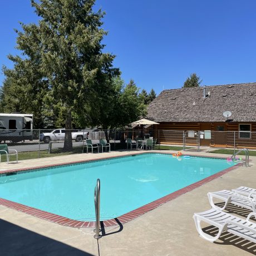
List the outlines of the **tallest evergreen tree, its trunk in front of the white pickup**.
{"type": "MultiPolygon", "coordinates": [[[[40,21],[22,24],[17,48],[24,58],[9,56],[14,69],[17,62],[27,61],[28,67],[36,66],[40,77],[35,77],[36,85],[30,86],[42,91],[46,110],[58,110],[65,116],[66,129],[72,127],[72,112],[77,114],[81,125],[88,124],[92,121],[90,116],[100,111],[99,96],[108,91],[111,78],[120,73],[112,67],[115,56],[102,53],[101,41],[107,32],[100,27],[105,13],[101,9],[92,10],[95,0],[31,0],[31,3],[40,21]]],[[[28,73],[24,74],[24,82],[30,79],[28,73]]],[[[71,133],[66,132],[65,136],[64,147],[71,149],[71,133]]]]}

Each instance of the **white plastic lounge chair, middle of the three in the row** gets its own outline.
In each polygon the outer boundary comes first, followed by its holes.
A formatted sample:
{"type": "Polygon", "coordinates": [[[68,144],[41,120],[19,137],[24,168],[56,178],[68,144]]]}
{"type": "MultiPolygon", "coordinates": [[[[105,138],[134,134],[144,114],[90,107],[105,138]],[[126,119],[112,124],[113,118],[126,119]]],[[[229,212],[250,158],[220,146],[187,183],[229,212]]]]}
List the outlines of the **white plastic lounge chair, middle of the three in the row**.
{"type": "Polygon", "coordinates": [[[215,209],[224,210],[229,203],[232,203],[232,204],[250,209],[256,213],[256,209],[255,209],[256,199],[254,199],[252,197],[235,194],[234,192],[229,191],[229,190],[220,190],[220,191],[216,191],[216,192],[209,192],[207,195],[208,195],[208,199],[209,199],[211,207],[213,207],[215,209]],[[224,206],[219,207],[219,206],[215,205],[213,202],[213,198],[223,200],[225,202],[224,206]]]}

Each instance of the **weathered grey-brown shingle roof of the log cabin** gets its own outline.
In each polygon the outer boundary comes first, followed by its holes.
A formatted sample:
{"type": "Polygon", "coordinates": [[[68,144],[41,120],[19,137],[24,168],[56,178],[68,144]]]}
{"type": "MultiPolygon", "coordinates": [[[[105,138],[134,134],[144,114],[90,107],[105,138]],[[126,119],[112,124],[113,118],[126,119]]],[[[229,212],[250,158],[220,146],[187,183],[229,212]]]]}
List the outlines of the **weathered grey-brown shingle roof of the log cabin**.
{"type": "Polygon", "coordinates": [[[155,122],[223,122],[231,111],[233,122],[256,121],[256,82],[164,90],[147,108],[155,122]]]}

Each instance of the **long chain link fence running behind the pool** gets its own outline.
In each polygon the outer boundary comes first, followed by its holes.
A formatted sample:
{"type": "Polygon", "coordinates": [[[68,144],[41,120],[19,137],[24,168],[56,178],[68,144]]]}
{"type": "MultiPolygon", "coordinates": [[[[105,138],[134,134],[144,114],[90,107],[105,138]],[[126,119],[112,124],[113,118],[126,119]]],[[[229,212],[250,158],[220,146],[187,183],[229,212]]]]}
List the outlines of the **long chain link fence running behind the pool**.
{"type": "MultiPolygon", "coordinates": [[[[248,131],[175,131],[151,129],[83,129],[83,130],[0,130],[0,145],[18,151],[18,159],[102,152],[101,140],[112,150],[127,150],[127,138],[153,139],[157,150],[201,151],[215,149],[256,149],[256,132],[248,131]],[[88,147],[92,144],[93,147],[88,147]]],[[[107,149],[108,150],[108,149],[107,149]]],[[[104,148],[106,151],[106,148],[104,148]]],[[[0,151],[1,153],[1,151],[0,151]]],[[[3,153],[3,152],[2,152],[3,153]]],[[[6,155],[1,153],[1,161],[6,155]]],[[[14,157],[14,156],[13,156],[14,157]]],[[[13,159],[14,160],[14,159],[13,159]]],[[[10,159],[12,161],[12,158],[10,159]]]]}

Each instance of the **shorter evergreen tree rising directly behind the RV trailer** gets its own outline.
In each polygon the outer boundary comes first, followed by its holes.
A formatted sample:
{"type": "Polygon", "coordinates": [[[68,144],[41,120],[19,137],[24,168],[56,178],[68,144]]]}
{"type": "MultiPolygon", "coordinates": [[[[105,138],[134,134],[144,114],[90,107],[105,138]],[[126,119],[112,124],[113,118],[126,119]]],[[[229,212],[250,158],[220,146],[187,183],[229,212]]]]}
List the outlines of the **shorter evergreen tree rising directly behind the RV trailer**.
{"type": "Polygon", "coordinates": [[[41,80],[37,63],[19,56],[8,56],[14,62],[13,69],[3,67],[6,79],[2,86],[3,112],[21,112],[34,115],[33,126],[44,127],[43,96],[47,83],[41,80]]]}

